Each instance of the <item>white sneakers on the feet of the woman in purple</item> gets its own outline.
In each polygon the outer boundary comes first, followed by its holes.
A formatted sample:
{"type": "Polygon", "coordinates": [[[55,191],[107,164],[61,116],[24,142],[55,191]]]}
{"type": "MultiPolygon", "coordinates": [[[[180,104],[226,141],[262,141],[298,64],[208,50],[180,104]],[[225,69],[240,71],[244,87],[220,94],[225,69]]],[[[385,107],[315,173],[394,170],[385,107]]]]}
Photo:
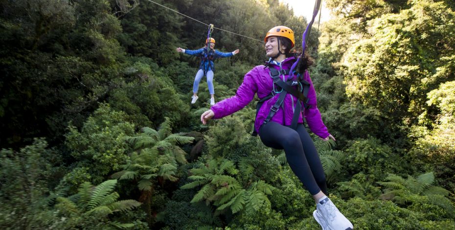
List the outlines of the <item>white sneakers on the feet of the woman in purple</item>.
{"type": "MultiPolygon", "coordinates": [[[[318,217],[319,220],[321,219],[320,217],[322,217],[327,225],[327,230],[352,230],[354,228],[352,223],[341,214],[340,210],[338,210],[328,197],[316,205],[316,215],[313,212],[313,216],[315,216],[315,219],[318,217]]],[[[316,221],[318,221],[318,219],[316,221]]],[[[321,221],[321,223],[323,222],[321,221]]],[[[323,224],[320,225],[322,229],[325,230],[323,224]]]]}

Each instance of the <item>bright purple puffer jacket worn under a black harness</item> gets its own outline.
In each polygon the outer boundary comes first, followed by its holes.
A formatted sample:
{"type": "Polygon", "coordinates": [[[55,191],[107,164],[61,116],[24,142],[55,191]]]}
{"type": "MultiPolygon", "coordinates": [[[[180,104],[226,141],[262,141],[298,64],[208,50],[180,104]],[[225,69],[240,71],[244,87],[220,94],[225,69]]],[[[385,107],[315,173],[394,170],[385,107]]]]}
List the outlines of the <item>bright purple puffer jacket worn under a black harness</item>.
{"type": "MultiPolygon", "coordinates": [[[[291,69],[291,66],[295,61],[296,59],[294,57],[286,58],[281,62],[281,68],[291,69]]],[[[280,66],[273,64],[270,64],[269,67],[278,70],[280,69],[280,66]]],[[[288,77],[289,75],[285,75],[285,80],[288,77]]],[[[326,138],[329,136],[329,132],[327,131],[327,127],[322,122],[321,114],[317,107],[315,88],[313,86],[313,82],[311,82],[308,71],[305,71],[304,79],[310,83],[310,90],[307,96],[309,99],[308,105],[310,105],[310,107],[304,110],[303,115],[305,116],[310,130],[320,138],[326,138]]],[[[243,83],[237,89],[234,96],[226,98],[210,108],[215,113],[213,118],[219,119],[227,115],[231,115],[248,105],[248,103],[250,103],[250,101],[254,98],[254,93],[257,93],[259,99],[262,99],[269,95],[272,90],[273,80],[270,76],[270,70],[265,68],[264,65],[256,66],[245,74],[243,83]]],[[[278,97],[279,93],[262,104],[261,109],[257,113],[256,122],[254,122],[256,132],[259,133],[259,128],[267,118],[267,115],[269,115],[270,108],[275,104],[276,100],[278,100],[278,97]]],[[[272,117],[271,121],[279,124],[284,123],[284,125],[291,125],[292,117],[294,115],[293,110],[296,103],[297,98],[288,93],[283,102],[284,109],[280,107],[278,112],[276,112],[276,114],[272,117]]],[[[303,123],[301,114],[298,118],[298,123],[303,123]]]]}

